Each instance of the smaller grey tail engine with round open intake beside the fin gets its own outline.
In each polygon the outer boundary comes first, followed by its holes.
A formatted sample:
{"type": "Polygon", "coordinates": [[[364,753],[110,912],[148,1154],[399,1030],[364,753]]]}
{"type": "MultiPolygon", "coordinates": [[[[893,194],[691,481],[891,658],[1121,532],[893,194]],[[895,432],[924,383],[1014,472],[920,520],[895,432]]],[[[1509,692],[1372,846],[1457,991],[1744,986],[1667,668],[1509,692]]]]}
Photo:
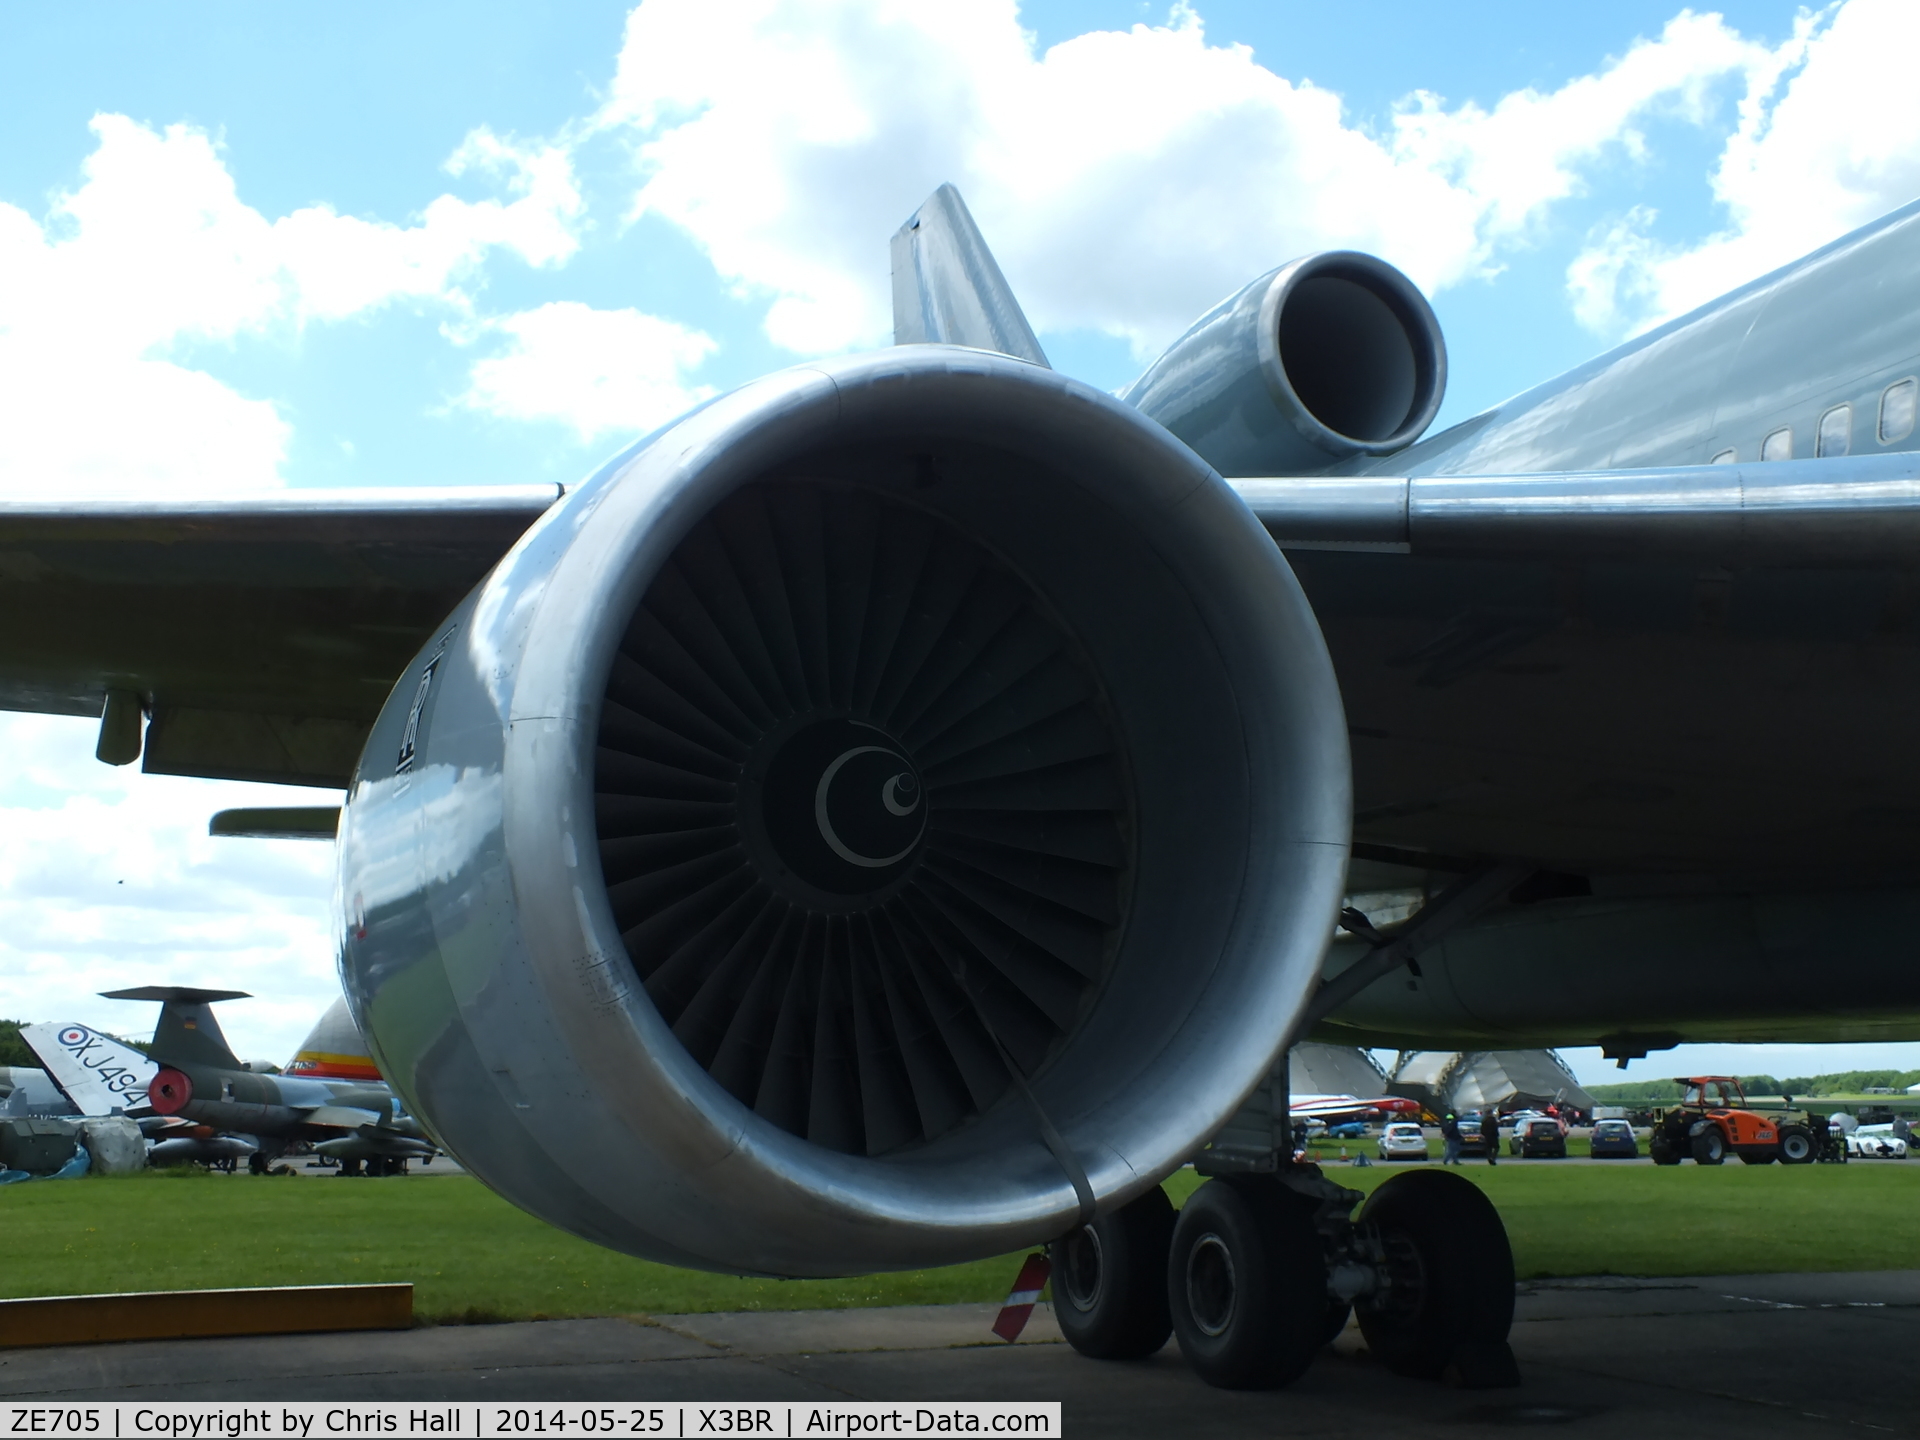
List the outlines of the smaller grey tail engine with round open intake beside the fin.
{"type": "Polygon", "coordinates": [[[1221,474],[1258,476],[1405,449],[1444,394],[1427,298],[1386,261],[1334,250],[1223,300],[1123,399],[1221,474]]]}

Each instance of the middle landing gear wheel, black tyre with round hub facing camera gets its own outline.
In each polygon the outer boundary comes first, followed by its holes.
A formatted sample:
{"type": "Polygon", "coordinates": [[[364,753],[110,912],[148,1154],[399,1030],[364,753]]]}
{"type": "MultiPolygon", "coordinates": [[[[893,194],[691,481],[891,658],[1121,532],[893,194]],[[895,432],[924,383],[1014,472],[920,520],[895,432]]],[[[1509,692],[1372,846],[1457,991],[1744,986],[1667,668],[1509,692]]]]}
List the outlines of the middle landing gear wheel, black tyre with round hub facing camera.
{"type": "Polygon", "coordinates": [[[1313,1210],[1271,1179],[1194,1190],[1173,1227],[1167,1300],[1181,1354],[1223,1390],[1292,1384],[1327,1340],[1327,1260],[1313,1210]]]}

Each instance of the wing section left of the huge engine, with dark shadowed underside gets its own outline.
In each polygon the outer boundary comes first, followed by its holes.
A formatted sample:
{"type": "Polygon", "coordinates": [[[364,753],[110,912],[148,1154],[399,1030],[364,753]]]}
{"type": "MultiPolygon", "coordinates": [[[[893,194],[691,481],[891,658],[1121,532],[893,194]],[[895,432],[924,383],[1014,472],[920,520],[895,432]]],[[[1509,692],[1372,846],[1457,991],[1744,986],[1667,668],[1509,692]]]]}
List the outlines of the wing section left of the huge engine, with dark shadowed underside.
{"type": "Polygon", "coordinates": [[[150,772],[346,785],[405,662],[559,493],[4,501],[0,708],[119,693],[150,772]]]}

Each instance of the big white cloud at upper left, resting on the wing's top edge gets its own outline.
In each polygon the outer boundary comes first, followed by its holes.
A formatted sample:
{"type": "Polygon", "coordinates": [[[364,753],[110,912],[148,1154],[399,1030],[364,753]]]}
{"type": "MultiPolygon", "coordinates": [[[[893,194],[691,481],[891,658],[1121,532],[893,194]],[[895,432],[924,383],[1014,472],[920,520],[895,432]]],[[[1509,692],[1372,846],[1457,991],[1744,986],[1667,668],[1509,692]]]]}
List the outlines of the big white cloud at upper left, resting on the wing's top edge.
{"type": "Polygon", "coordinates": [[[0,204],[0,493],[219,493],[280,482],[278,409],[180,363],[184,342],[365,315],[467,307],[492,252],[574,253],[582,202],[563,148],[474,131],[447,169],[511,200],[440,196],[419,223],[313,205],[269,221],[213,140],[98,115],[83,182],[44,221],[0,204]]]}

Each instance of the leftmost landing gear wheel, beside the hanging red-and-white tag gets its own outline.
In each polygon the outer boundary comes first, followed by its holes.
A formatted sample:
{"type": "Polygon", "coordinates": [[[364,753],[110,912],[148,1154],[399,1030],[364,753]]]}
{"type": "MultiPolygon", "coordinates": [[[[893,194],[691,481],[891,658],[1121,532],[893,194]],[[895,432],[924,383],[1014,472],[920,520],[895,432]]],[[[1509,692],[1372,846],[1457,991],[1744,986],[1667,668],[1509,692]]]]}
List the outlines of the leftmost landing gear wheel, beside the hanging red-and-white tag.
{"type": "Polygon", "coordinates": [[[1173,1221],[1173,1202],[1156,1185],[1048,1246],[1054,1319],[1069,1346],[1094,1359],[1140,1359],[1167,1342],[1173,1221]]]}

